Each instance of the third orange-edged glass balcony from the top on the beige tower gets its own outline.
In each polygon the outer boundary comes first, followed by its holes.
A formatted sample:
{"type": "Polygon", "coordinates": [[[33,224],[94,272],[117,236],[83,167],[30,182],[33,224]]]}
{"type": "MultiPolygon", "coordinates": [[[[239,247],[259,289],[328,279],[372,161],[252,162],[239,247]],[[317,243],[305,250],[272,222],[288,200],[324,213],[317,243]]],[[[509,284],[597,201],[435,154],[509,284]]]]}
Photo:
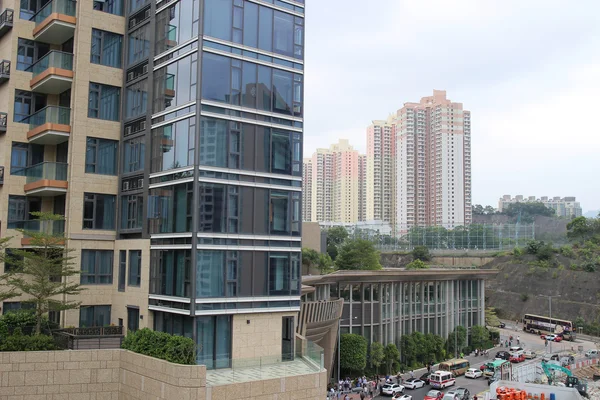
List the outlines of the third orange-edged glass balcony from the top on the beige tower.
{"type": "Polygon", "coordinates": [[[27,139],[35,144],[59,144],[69,140],[71,109],[47,106],[29,116],[27,139]]]}

